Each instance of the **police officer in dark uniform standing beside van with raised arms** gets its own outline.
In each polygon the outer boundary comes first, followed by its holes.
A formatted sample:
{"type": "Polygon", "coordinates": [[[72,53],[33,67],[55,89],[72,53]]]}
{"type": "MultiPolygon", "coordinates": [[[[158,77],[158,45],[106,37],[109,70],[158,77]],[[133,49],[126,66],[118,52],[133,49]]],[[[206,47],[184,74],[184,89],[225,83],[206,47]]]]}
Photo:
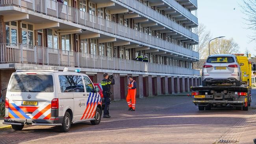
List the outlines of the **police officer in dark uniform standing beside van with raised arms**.
{"type": "Polygon", "coordinates": [[[101,86],[103,89],[103,96],[104,96],[104,101],[105,101],[105,108],[104,108],[104,114],[103,114],[103,118],[110,118],[111,116],[109,116],[109,104],[110,104],[110,85],[115,85],[115,79],[113,79],[113,75],[112,76],[108,76],[107,73],[103,74],[104,79],[101,81],[101,86]]]}

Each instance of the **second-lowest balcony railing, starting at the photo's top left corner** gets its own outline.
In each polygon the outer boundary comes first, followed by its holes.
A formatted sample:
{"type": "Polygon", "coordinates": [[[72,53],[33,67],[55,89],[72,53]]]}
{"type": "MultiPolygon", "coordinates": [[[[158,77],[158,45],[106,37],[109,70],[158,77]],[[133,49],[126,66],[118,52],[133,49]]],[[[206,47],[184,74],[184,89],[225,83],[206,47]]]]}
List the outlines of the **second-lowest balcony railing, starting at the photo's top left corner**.
{"type": "Polygon", "coordinates": [[[84,11],[66,6],[54,0],[0,0],[0,2],[0,6],[14,5],[26,7],[30,10],[38,11],[51,17],[59,17],[96,30],[132,39],[134,41],[163,48],[165,50],[170,50],[174,54],[184,54],[185,56],[187,55],[188,57],[195,58],[199,57],[199,53],[193,50],[164,41],[121,24],[111,22],[104,18],[85,13],[84,11]]]}

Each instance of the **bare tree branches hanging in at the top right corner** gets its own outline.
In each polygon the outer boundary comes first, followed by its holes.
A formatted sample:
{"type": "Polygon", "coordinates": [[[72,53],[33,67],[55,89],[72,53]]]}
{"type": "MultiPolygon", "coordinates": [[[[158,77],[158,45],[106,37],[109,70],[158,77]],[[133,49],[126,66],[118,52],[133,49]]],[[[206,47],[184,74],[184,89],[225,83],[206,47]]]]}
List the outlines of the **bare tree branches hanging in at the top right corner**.
{"type": "Polygon", "coordinates": [[[248,28],[254,30],[255,35],[249,36],[251,41],[256,41],[256,0],[243,0],[243,5],[240,5],[243,13],[248,16],[245,20],[248,21],[248,28]]]}

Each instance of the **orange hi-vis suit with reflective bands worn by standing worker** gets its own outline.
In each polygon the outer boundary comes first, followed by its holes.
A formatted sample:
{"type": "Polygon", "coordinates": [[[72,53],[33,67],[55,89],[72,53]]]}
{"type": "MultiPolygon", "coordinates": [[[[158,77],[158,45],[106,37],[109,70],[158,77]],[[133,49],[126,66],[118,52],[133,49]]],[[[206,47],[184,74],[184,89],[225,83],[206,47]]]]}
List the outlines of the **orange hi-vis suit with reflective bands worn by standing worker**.
{"type": "MultiPolygon", "coordinates": [[[[128,87],[132,88],[134,87],[134,83],[136,83],[136,81],[129,81],[128,83],[128,87]]],[[[135,89],[128,89],[128,94],[126,97],[126,102],[128,104],[129,107],[132,107],[132,109],[135,110],[135,103],[136,103],[136,85],[135,85],[135,89]],[[132,100],[132,102],[131,102],[132,100]]]]}

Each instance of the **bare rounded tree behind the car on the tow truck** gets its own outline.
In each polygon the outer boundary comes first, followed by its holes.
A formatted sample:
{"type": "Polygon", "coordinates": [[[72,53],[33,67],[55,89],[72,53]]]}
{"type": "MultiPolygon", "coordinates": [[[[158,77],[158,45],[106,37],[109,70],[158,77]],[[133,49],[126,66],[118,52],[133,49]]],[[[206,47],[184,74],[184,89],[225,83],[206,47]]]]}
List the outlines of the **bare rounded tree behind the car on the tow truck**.
{"type": "Polygon", "coordinates": [[[210,44],[210,54],[236,54],[239,47],[234,39],[215,39],[210,44]]]}

